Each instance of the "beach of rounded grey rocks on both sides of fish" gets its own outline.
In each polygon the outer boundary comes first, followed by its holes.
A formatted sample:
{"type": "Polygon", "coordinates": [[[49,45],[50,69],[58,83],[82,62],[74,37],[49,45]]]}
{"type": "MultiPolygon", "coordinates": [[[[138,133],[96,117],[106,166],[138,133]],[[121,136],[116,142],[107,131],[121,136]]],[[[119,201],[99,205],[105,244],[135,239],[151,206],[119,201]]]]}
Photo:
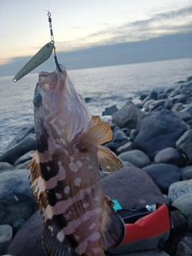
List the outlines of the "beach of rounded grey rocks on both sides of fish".
{"type": "MultiPolygon", "coordinates": [[[[104,110],[102,122],[110,122],[114,134],[105,146],[123,162],[121,170],[101,173],[104,194],[126,210],[166,203],[181,212],[174,219],[177,235],[162,251],[137,247],[116,255],[192,255],[192,77],[164,91],[141,92],[138,104],[128,101],[118,110],[114,102],[104,110]]],[[[27,170],[34,150],[34,126],[29,126],[0,155],[0,255],[46,256],[42,216],[27,170]]]]}

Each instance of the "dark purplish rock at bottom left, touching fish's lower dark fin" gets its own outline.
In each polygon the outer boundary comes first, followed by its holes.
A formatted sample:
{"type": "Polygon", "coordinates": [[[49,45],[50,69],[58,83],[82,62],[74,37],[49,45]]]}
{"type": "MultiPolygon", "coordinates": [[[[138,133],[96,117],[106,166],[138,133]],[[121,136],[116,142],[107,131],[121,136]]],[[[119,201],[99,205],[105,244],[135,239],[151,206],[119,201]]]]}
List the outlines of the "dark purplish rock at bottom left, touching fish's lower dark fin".
{"type": "Polygon", "coordinates": [[[6,254],[13,254],[14,256],[46,256],[42,249],[42,230],[42,216],[40,216],[39,211],[36,211],[18,230],[6,254]]]}

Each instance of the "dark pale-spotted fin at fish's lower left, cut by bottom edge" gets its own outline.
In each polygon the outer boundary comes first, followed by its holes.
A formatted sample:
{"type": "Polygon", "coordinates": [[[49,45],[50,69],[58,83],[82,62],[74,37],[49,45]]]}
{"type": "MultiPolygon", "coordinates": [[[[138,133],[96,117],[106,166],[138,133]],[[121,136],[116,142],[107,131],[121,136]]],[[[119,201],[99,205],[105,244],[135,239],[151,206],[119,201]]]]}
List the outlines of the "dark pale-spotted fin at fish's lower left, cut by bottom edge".
{"type": "Polygon", "coordinates": [[[42,244],[48,256],[79,256],[54,216],[44,224],[42,244]]]}

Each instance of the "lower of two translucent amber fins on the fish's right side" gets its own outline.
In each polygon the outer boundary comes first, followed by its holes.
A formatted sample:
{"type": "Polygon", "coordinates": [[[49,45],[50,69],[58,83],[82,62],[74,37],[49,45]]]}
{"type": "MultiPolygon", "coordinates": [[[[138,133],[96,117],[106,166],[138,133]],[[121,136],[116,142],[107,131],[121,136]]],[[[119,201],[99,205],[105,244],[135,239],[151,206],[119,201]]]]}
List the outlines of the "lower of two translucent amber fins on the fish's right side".
{"type": "Polygon", "coordinates": [[[111,173],[122,168],[122,161],[105,146],[98,146],[98,164],[104,173],[111,173]]]}

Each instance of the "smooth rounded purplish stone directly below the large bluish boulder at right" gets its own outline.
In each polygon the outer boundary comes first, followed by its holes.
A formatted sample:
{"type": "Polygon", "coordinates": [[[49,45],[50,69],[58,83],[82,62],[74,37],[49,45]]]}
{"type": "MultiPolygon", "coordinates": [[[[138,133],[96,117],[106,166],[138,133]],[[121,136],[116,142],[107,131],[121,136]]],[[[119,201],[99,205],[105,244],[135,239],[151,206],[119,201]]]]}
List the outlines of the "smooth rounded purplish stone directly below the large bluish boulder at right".
{"type": "Polygon", "coordinates": [[[173,147],[168,147],[165,150],[159,151],[154,158],[154,162],[170,163],[178,167],[186,165],[186,159],[173,147]]]}

